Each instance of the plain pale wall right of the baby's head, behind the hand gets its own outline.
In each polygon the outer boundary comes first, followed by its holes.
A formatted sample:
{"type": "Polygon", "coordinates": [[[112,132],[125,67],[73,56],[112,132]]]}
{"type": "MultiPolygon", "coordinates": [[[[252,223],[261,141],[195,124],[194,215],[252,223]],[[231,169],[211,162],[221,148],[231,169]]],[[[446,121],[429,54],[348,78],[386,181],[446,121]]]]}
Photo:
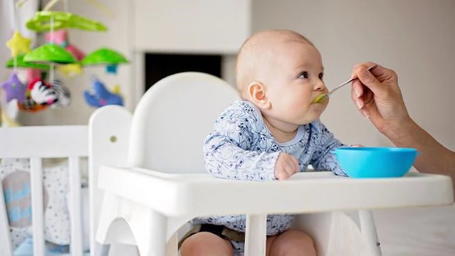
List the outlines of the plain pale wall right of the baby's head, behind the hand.
{"type": "MultiPolygon", "coordinates": [[[[349,79],[353,65],[376,61],[399,74],[408,110],[455,150],[455,1],[253,1],[253,31],[294,29],[321,51],[326,86],[349,79]]],[[[322,120],[337,138],[390,145],[356,111],[348,87],[337,91],[322,120]]]]}

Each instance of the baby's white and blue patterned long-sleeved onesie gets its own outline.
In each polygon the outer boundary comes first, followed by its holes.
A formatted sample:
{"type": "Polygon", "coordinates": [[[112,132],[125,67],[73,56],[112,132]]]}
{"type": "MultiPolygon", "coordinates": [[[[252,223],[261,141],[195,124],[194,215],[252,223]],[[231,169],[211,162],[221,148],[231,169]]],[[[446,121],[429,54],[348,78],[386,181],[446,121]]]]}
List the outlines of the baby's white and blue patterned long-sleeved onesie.
{"type": "MultiPolygon", "coordinates": [[[[330,150],[343,144],[319,121],[298,127],[296,136],[278,143],[264,125],[262,115],[253,104],[235,101],[218,117],[214,131],[204,142],[205,168],[216,177],[255,181],[273,180],[280,152],[296,157],[301,172],[311,164],[315,170],[331,170],[345,175],[330,150]]],[[[292,222],[292,215],[267,216],[267,234],[281,233],[292,222]]],[[[246,216],[198,217],[193,223],[224,225],[245,232],[246,216]]],[[[231,241],[235,255],[243,255],[244,243],[231,241]]]]}

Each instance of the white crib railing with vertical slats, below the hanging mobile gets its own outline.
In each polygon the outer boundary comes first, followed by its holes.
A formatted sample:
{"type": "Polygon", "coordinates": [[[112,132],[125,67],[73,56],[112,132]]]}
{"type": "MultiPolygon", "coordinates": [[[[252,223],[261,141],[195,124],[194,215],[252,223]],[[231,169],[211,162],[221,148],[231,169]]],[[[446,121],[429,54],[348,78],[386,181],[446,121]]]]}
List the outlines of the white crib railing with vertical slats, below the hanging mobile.
{"type": "MultiPolygon", "coordinates": [[[[42,159],[67,158],[69,170],[69,195],[71,211],[72,255],[82,255],[81,173],[79,160],[88,156],[87,126],[42,126],[0,129],[0,159],[28,158],[31,164],[31,207],[33,230],[33,255],[45,255],[45,223],[43,211],[42,159]]],[[[1,189],[1,184],[0,184],[1,189]]],[[[2,195],[3,193],[0,193],[2,195]]],[[[1,198],[3,201],[3,197],[1,198]]],[[[8,218],[4,202],[0,204],[0,227],[8,218]],[[2,214],[3,213],[3,214],[2,214]],[[3,215],[3,218],[1,218],[3,215]]],[[[5,223],[6,222],[6,223],[5,223]]],[[[0,230],[0,232],[2,232],[0,230]]],[[[9,234],[0,239],[1,255],[13,255],[9,234]]]]}

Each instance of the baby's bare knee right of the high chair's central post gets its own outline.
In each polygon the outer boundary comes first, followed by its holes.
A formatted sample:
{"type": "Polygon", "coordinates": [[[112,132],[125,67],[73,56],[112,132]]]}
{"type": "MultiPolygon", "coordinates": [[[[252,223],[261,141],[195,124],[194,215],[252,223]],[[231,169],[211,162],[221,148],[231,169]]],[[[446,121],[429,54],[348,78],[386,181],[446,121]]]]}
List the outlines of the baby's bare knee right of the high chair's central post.
{"type": "Polygon", "coordinates": [[[316,256],[313,239],[305,232],[286,230],[267,238],[267,256],[316,256]]]}

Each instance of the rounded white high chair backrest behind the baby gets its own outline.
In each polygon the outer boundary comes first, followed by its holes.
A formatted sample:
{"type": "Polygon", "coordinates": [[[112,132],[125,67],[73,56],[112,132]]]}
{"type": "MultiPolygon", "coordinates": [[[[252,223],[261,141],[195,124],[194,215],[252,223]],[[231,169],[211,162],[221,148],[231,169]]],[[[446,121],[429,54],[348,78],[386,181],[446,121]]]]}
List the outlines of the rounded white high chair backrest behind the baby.
{"type": "Polygon", "coordinates": [[[211,74],[183,72],[161,79],[134,111],[129,166],[204,173],[204,138],[235,99],[239,99],[237,90],[211,74]]]}

